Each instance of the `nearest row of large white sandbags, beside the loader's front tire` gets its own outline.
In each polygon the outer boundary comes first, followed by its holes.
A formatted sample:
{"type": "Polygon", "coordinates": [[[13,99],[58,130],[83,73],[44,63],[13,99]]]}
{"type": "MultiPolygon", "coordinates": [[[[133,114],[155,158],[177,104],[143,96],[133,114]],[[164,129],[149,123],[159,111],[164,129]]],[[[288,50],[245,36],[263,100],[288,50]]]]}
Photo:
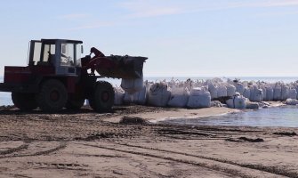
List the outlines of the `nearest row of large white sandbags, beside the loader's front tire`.
{"type": "Polygon", "coordinates": [[[142,86],[136,93],[124,92],[120,87],[115,88],[115,104],[126,103],[149,104],[158,107],[177,108],[209,108],[211,103],[210,93],[206,88],[192,88],[173,85],[168,88],[166,83],[155,83],[142,86]]]}

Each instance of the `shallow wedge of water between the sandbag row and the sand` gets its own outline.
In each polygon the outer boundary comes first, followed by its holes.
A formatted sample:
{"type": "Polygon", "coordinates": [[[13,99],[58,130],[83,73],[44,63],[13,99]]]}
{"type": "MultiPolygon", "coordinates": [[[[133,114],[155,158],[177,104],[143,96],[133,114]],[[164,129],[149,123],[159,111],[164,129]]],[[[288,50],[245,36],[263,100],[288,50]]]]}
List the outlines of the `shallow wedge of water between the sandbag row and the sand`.
{"type": "Polygon", "coordinates": [[[159,123],[175,125],[283,126],[298,127],[298,106],[272,107],[197,118],[165,119],[159,123]]]}

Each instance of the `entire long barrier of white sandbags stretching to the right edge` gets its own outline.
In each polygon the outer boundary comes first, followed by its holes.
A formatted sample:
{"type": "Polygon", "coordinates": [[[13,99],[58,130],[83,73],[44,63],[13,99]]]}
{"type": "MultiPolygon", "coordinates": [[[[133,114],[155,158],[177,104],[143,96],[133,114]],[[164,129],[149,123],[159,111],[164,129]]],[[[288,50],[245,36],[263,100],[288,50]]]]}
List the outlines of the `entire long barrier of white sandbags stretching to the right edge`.
{"type": "Polygon", "coordinates": [[[240,83],[231,80],[222,82],[219,78],[196,82],[190,79],[185,82],[171,80],[167,83],[164,81],[155,84],[146,83],[144,85],[142,79],[137,79],[128,82],[125,81],[125,83],[121,85],[125,89],[125,93],[120,88],[115,89],[115,104],[121,104],[125,101],[138,104],[147,103],[153,106],[169,105],[180,108],[185,106],[188,106],[189,108],[205,108],[210,106],[210,104],[208,104],[210,101],[207,96],[209,94],[210,98],[213,100],[216,98],[233,96],[233,102],[231,102],[231,100],[230,102],[227,101],[228,107],[244,109],[246,108],[247,99],[249,99],[249,101],[258,102],[286,101],[288,98],[296,99],[297,92],[294,88],[295,85],[297,84],[266,84],[263,82],[240,83]],[[207,93],[208,91],[209,93],[207,93]],[[240,95],[243,96],[235,96],[236,93],[240,93],[240,95]],[[202,101],[202,97],[205,98],[205,101],[202,101]],[[197,102],[197,104],[195,102],[197,102]]]}

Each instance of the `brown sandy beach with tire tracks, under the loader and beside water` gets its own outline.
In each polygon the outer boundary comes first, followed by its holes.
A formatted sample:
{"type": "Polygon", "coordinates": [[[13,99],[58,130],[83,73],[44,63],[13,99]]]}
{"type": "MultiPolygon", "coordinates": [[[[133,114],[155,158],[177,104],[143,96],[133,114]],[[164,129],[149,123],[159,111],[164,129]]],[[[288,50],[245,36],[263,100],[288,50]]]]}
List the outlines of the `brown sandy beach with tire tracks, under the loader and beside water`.
{"type": "Polygon", "coordinates": [[[298,177],[297,128],[152,124],[236,109],[0,111],[0,177],[298,177]]]}

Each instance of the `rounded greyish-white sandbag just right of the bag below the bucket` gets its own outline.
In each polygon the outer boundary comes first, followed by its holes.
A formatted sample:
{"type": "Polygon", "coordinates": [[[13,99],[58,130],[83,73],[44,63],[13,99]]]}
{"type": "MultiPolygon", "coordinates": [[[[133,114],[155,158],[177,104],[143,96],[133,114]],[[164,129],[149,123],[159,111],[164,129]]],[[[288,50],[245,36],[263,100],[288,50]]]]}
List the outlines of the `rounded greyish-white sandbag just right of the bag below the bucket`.
{"type": "Polygon", "coordinates": [[[171,92],[167,90],[165,83],[156,83],[149,89],[148,103],[152,106],[165,107],[170,96],[171,92]]]}

